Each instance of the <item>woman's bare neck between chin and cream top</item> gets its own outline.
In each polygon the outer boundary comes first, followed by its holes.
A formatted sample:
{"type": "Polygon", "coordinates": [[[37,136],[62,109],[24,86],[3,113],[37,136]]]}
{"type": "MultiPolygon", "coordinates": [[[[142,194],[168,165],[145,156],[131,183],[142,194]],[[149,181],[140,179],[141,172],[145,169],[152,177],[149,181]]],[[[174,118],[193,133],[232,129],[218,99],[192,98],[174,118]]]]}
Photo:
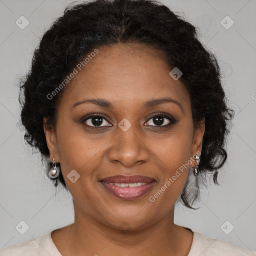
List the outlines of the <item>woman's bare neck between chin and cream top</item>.
{"type": "Polygon", "coordinates": [[[127,222],[119,227],[104,224],[81,212],[75,201],[74,212],[74,223],[70,225],[67,235],[68,255],[80,256],[86,252],[86,255],[180,256],[187,255],[190,249],[187,244],[184,248],[181,242],[186,229],[173,223],[174,208],[163,218],[142,228],[131,227],[127,222]]]}

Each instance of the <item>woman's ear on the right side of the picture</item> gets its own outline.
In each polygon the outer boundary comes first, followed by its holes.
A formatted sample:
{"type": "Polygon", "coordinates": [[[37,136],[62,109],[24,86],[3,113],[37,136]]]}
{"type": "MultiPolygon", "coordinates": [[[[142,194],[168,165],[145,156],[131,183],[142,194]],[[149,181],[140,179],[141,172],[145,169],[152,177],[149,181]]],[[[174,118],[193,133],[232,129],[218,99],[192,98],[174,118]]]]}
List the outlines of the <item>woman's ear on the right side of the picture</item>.
{"type": "MultiPolygon", "coordinates": [[[[202,120],[200,120],[200,122],[198,123],[198,126],[195,128],[194,130],[194,136],[193,136],[193,143],[192,143],[192,149],[191,149],[191,159],[194,160],[193,156],[194,155],[201,155],[201,151],[202,151],[202,139],[203,139],[203,134],[204,134],[204,130],[205,130],[205,118],[203,117],[202,120]]],[[[194,164],[194,166],[191,167],[195,167],[196,164],[194,164]]]]}

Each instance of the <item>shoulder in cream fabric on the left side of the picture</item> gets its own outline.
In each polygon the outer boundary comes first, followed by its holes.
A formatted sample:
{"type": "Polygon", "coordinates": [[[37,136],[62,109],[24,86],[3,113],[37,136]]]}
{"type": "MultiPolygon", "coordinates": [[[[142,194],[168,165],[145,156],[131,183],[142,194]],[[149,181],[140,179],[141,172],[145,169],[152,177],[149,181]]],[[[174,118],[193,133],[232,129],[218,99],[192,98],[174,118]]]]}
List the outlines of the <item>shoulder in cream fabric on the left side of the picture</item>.
{"type": "Polygon", "coordinates": [[[26,242],[0,249],[0,256],[61,256],[51,239],[51,231],[26,242]]]}

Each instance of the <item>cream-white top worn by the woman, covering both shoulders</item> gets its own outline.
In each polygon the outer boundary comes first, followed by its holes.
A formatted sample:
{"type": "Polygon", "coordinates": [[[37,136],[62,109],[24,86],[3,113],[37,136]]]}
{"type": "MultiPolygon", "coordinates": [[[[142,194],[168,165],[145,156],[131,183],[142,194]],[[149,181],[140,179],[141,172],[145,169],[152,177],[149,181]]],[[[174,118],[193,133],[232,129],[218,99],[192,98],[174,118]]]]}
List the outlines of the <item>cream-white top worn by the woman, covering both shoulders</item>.
{"type": "MultiPolygon", "coordinates": [[[[192,231],[192,230],[191,230],[192,231]]],[[[62,256],[51,239],[51,232],[26,242],[0,249],[0,256],[62,256]]],[[[237,247],[229,242],[207,238],[193,232],[193,241],[187,256],[255,256],[256,251],[237,247]]]]}

